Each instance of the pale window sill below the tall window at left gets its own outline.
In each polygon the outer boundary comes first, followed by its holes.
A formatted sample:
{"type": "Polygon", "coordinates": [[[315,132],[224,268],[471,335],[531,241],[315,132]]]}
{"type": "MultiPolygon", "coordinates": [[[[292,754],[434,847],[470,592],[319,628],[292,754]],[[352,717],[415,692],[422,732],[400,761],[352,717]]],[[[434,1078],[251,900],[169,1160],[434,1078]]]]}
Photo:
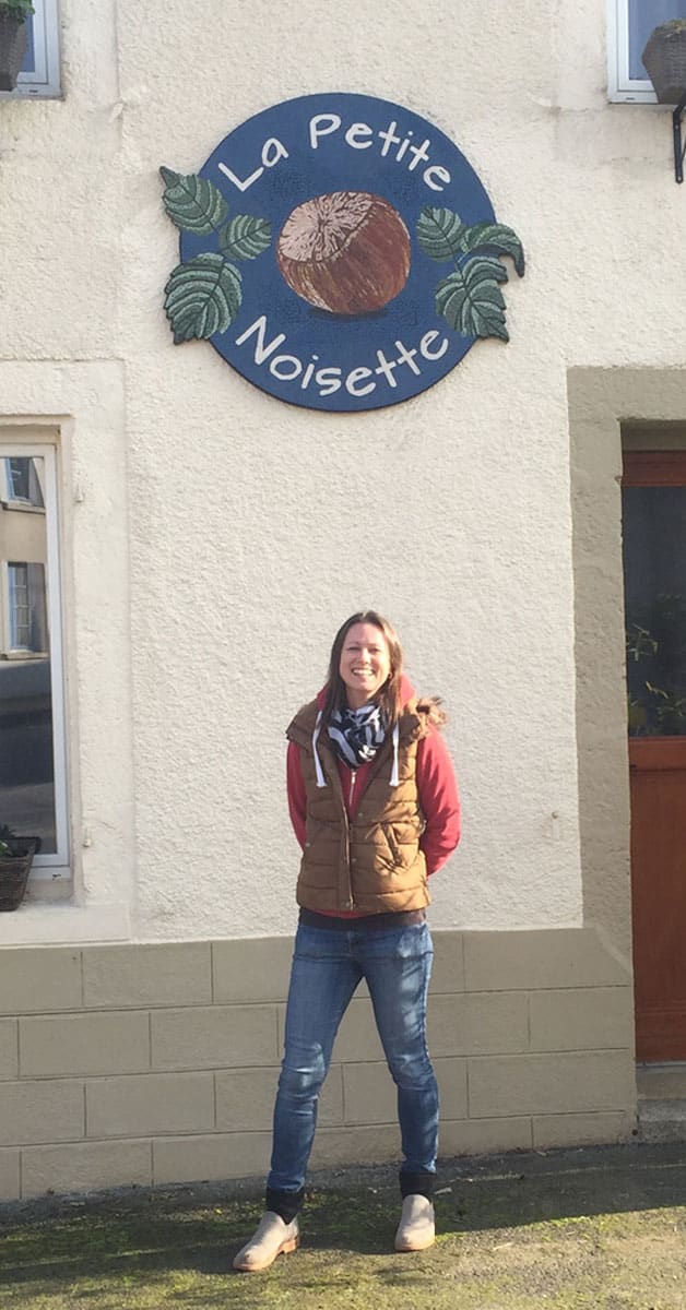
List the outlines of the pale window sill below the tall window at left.
{"type": "Polygon", "coordinates": [[[25,901],[0,914],[0,946],[77,946],[130,942],[127,905],[52,905],[25,901]]]}

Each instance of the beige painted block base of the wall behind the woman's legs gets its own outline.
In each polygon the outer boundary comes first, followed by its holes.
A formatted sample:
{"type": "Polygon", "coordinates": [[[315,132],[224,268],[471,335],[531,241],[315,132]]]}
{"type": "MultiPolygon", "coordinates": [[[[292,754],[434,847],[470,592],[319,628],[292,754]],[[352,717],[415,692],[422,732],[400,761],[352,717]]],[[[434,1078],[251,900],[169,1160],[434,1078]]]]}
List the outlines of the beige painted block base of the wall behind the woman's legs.
{"type": "MultiPolygon", "coordinates": [[[[590,929],[434,939],[442,1154],[630,1137],[628,963],[590,929]]],[[[1,951],[0,1199],[264,1176],[289,959],[283,938],[1,951]]],[[[361,988],[312,1166],[397,1161],[395,1102],[361,988]]]]}

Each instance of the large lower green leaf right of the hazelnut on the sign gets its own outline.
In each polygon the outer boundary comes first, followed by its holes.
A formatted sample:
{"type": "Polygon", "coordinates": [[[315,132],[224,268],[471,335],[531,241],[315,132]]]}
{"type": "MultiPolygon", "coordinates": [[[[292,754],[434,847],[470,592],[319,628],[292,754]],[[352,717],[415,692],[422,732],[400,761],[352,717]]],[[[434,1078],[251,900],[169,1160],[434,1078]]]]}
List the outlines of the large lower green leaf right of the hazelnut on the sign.
{"type": "Polygon", "coordinates": [[[475,257],[435,288],[435,310],[449,328],[467,337],[500,337],[509,341],[505,301],[498,282],[508,271],[498,259],[475,257]]]}

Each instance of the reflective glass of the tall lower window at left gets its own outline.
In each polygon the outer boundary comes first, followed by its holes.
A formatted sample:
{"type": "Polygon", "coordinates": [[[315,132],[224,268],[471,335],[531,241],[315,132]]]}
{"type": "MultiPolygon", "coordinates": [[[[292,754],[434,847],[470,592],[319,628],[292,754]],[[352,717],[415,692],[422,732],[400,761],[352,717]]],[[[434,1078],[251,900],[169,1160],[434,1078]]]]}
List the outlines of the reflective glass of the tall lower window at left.
{"type": "Polygon", "coordinates": [[[51,854],[56,833],[45,460],[10,457],[8,465],[8,490],[16,499],[0,504],[0,823],[39,836],[42,852],[51,854]]]}

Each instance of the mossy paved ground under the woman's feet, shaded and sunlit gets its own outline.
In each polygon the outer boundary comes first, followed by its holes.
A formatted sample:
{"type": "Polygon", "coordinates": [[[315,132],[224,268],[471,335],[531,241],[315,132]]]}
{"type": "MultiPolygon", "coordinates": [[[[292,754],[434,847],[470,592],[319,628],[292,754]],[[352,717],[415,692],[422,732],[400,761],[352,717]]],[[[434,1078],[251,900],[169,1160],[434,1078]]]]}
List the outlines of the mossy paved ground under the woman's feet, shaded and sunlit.
{"type": "Polygon", "coordinates": [[[0,1207],[1,1310],[686,1310],[686,1144],[446,1162],[437,1244],[396,1255],[388,1170],[317,1175],[303,1244],[231,1256],[249,1184],[0,1207]]]}

